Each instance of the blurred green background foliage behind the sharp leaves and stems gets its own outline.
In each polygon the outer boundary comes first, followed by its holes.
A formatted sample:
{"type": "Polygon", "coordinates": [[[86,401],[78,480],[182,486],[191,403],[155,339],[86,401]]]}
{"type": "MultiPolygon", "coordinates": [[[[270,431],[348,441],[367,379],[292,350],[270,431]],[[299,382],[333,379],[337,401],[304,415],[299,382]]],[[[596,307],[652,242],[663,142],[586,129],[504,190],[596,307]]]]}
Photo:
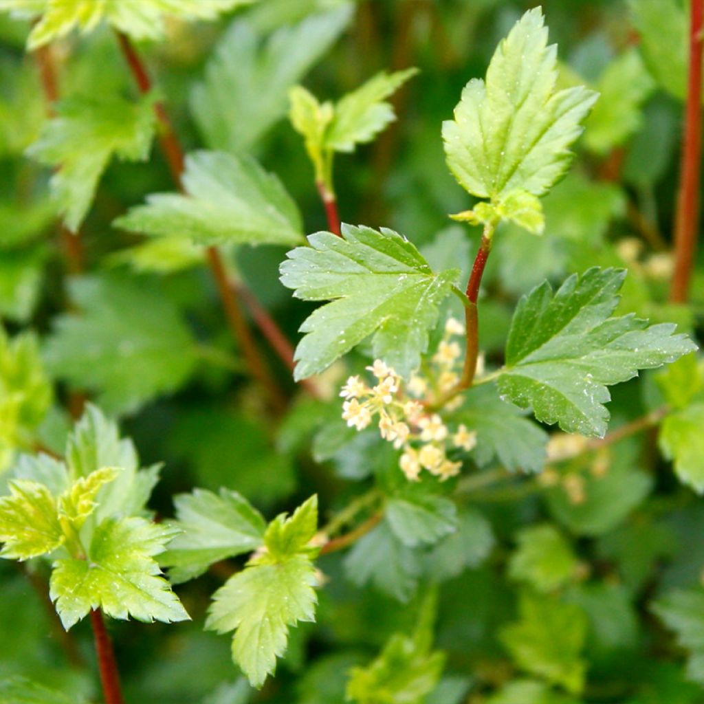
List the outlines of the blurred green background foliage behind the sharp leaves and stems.
{"type": "MultiPolygon", "coordinates": [[[[417,66],[420,74],[394,96],[398,121],[337,159],[341,218],[402,232],[429,247],[429,259],[457,265],[466,253],[468,266],[478,233],[448,225],[447,213],[471,203],[446,167],[440,125],[529,6],[260,0],[217,23],[170,23],[167,41],[140,48],[187,150],[256,156],[298,203],[306,232],[326,221],[302,141],[286,119],[289,87],[302,82],[337,99],[379,70],[417,66]],[[300,32],[311,17],[318,27],[300,32]]],[[[543,278],[560,282],[591,265],[628,268],[622,312],[696,331],[702,268],[691,306],[667,303],[684,7],[545,0],[543,11],[560,47],[562,82],[586,82],[602,96],[574,168],[544,201],[543,237],[510,227],[498,233],[485,277],[482,348],[500,361],[517,298],[543,278]]],[[[329,401],[301,396],[272,420],[222,323],[202,251],[112,226],[145,194],[172,190],[156,147],[144,163],[109,165],[80,231],[84,271],[67,270],[48,196],[51,172],[26,156],[46,120],[37,65],[25,54],[28,30],[23,20],[0,17],[0,317],[11,334],[37,329],[59,383],[42,442],[63,446],[65,401],[70,391],[87,390],[120,416],[144,464],[165,463],[153,500],[161,515],[172,515],[172,494],[192,486],[237,489],[268,516],[313,491],[323,515],[343,507],[395,463],[378,437],[342,429],[334,389],[344,366],[320,380],[329,401]]],[[[53,51],[63,101],[136,98],[106,28],[53,51]]],[[[278,282],[285,249],[226,251],[232,275],[296,339],[310,307],[278,282]]],[[[261,340],[260,349],[293,395],[288,370],[261,340]]],[[[614,396],[612,427],[662,403],[655,375],[614,396]]],[[[329,582],[318,625],[294,631],[277,677],[260,692],[238,680],[227,639],[202,632],[208,596],[222,582],[212,572],[180,588],[192,624],[113,624],[127,700],[339,704],[353,665],[375,658],[391,634],[413,631],[419,585],[423,591],[436,579],[436,647],[447,665],[427,704],[704,702],[704,505],[674,479],[652,435],[555,463],[539,479],[467,491],[462,500],[460,534],[425,552],[375,533],[373,558],[358,543],[322,559],[329,582]]],[[[70,696],[96,697],[84,668],[93,658],[87,627],[72,631],[67,645],[32,589],[41,569],[28,580],[0,565],[0,679],[27,675],[70,696]]]]}

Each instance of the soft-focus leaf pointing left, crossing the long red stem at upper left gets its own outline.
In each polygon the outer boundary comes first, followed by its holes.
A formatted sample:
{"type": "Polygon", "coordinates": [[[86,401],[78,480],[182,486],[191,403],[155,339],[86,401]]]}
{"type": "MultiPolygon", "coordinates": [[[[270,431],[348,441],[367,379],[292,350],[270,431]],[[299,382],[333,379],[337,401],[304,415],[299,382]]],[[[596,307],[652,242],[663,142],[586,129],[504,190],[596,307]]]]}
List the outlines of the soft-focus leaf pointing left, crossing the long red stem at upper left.
{"type": "Polygon", "coordinates": [[[185,194],[147,196],[113,223],[152,237],[189,237],[198,244],[300,244],[301,214],[273,174],[249,156],[196,151],[186,158],[185,194]]]}

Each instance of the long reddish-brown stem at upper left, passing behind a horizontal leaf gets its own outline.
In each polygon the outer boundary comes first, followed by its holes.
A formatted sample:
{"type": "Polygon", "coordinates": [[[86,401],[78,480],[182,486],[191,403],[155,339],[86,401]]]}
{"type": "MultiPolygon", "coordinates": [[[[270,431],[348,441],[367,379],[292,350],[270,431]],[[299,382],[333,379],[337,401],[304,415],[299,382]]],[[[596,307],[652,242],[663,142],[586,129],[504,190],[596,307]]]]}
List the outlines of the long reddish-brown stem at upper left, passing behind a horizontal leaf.
{"type": "MultiPolygon", "coordinates": [[[[151,77],[146,70],[142,58],[137,54],[134,46],[132,46],[129,37],[122,34],[122,32],[117,32],[117,35],[122,55],[125,57],[127,65],[130,67],[139,92],[142,94],[151,92],[151,77]]],[[[180,189],[183,189],[181,177],[184,170],[184,153],[181,144],[163,103],[154,103],[154,114],[161,128],[161,134],[159,136],[161,149],[166,157],[175,183],[180,189]]],[[[218,294],[222,301],[222,307],[225,309],[227,322],[230,325],[230,329],[232,329],[234,337],[239,342],[247,366],[252,376],[267,389],[272,406],[275,410],[282,410],[285,406],[284,397],[274,378],[270,375],[256,347],[249,325],[247,325],[241,310],[238,289],[230,285],[220,251],[216,247],[211,246],[208,247],[207,254],[208,265],[210,266],[210,271],[213,274],[215,283],[218,286],[218,294]]],[[[253,300],[252,294],[250,294],[250,298],[253,300]]],[[[270,322],[272,325],[275,325],[273,320],[270,322]]]]}

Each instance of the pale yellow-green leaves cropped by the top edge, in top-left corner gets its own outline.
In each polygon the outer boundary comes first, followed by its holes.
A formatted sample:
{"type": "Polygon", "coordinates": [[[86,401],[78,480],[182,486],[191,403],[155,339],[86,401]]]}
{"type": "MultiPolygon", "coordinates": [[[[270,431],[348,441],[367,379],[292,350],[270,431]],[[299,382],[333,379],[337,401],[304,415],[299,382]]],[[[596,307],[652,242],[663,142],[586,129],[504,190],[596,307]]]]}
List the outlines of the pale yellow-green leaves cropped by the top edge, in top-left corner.
{"type": "Polygon", "coordinates": [[[256,0],[0,0],[0,11],[42,15],[34,26],[27,49],[37,49],[73,30],[87,33],[101,22],[132,39],[161,39],[165,15],[180,20],[213,20],[256,0]]]}

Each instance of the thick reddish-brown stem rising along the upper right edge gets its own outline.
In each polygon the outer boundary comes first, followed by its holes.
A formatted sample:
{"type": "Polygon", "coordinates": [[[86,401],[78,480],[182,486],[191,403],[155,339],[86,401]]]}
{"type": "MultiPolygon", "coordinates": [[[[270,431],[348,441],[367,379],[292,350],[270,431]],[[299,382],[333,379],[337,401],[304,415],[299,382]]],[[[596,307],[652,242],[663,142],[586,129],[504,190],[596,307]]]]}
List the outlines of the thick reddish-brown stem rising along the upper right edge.
{"type": "Polygon", "coordinates": [[[699,226],[701,175],[702,30],[704,0],[691,0],[689,81],[680,161],[679,194],[674,220],[674,272],[670,300],[685,303],[689,296],[699,226]]]}

